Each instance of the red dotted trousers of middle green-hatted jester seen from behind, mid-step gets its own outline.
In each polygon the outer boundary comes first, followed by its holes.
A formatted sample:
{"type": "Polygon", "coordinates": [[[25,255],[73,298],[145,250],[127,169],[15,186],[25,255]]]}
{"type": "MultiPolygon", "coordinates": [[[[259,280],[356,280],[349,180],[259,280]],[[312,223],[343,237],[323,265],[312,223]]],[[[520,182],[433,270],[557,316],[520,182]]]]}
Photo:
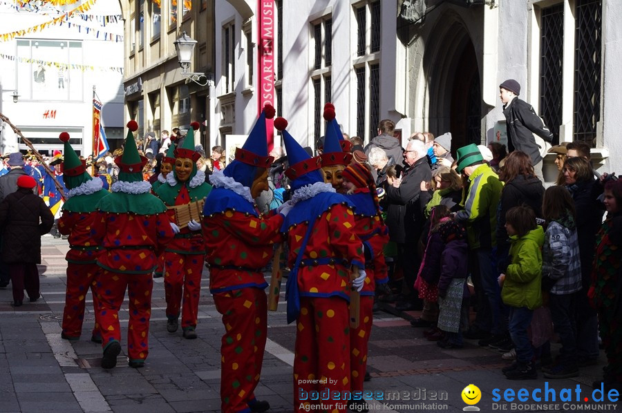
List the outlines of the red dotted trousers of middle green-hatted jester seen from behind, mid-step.
{"type": "Polygon", "coordinates": [[[151,273],[127,274],[102,269],[98,276],[97,296],[102,347],[121,340],[119,309],[129,301],[127,355],[130,361],[144,361],[149,354],[149,318],[151,318],[151,273]]]}

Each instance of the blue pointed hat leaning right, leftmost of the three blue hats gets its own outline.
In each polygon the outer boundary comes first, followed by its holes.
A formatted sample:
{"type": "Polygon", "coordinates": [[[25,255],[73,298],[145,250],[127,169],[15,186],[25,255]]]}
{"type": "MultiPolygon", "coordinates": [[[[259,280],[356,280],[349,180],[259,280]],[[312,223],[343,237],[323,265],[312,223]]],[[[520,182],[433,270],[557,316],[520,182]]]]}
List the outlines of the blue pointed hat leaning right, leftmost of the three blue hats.
{"type": "Polygon", "coordinates": [[[274,157],[268,156],[265,119],[272,119],[276,111],[267,104],[261,111],[255,126],[241,148],[236,148],[236,157],[223,170],[225,176],[232,177],[244,186],[252,186],[258,168],[269,168],[274,157]]]}

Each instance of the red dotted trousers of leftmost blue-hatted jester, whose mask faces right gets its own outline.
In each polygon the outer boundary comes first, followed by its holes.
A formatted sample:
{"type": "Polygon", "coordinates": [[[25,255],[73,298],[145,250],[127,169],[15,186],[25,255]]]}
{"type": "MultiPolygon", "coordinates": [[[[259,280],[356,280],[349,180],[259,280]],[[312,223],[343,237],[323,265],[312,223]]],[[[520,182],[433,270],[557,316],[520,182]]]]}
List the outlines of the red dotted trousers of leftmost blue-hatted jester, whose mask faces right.
{"type": "Polygon", "coordinates": [[[248,411],[259,383],[267,337],[267,296],[259,288],[214,294],[223,315],[225,335],[220,345],[220,400],[223,413],[248,411]]]}

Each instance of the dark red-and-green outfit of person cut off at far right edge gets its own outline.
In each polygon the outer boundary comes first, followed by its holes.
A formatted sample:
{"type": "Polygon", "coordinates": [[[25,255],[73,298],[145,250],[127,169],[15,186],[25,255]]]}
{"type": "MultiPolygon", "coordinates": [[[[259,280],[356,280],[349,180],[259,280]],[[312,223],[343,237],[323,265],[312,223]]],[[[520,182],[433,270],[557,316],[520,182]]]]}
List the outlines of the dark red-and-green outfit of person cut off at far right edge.
{"type": "MultiPolygon", "coordinates": [[[[607,365],[605,389],[622,390],[622,212],[607,213],[596,236],[592,287],[588,296],[599,314],[607,365]]],[[[605,390],[606,391],[606,390],[605,390]]]]}

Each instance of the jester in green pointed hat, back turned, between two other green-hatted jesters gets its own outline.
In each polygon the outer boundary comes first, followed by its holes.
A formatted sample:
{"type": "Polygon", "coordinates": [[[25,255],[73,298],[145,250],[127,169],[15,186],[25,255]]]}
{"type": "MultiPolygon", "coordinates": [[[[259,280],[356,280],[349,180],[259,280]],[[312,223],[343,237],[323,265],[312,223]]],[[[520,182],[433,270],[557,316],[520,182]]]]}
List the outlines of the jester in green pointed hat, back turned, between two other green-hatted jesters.
{"type": "Polygon", "coordinates": [[[142,167],[147,158],[138,155],[132,134],[138,124],[131,120],[127,126],[124,151],[115,160],[120,168],[119,180],[112,184],[112,193],[97,203],[92,227],[93,241],[104,247],[97,259],[102,270],[96,285],[104,369],[115,367],[121,352],[119,309],[126,289],[129,365],[144,366],[149,354],[151,272],[164,246],[173,240],[173,225],[166,214],[166,206],[149,193],[151,184],[142,180],[142,167]]]}

